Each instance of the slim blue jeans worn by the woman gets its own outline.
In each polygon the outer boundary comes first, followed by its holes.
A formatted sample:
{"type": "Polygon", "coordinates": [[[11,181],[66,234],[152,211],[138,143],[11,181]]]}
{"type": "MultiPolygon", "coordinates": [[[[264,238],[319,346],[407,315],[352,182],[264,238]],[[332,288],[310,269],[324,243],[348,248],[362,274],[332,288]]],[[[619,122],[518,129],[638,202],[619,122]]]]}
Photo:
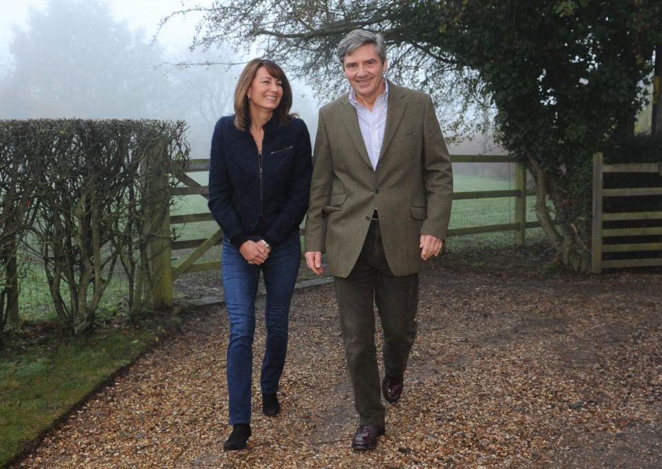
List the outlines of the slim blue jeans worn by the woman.
{"type": "MultiPolygon", "coordinates": [[[[257,241],[259,237],[251,240],[257,241]]],[[[292,233],[283,244],[274,247],[261,265],[248,264],[239,249],[224,238],[222,260],[225,307],[230,316],[227,366],[230,396],[229,423],[250,424],[255,296],[260,272],[263,273],[267,291],[265,308],[267,339],[260,387],[265,394],[275,394],[285,366],[290,302],[301,264],[299,232],[292,233]]]]}

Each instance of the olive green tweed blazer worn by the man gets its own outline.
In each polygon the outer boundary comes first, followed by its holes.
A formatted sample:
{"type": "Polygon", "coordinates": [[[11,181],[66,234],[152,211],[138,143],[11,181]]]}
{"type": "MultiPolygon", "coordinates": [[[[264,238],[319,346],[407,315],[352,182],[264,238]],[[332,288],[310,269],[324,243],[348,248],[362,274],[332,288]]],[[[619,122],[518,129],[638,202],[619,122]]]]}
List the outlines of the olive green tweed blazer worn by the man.
{"type": "Polygon", "coordinates": [[[323,251],[330,273],[347,277],[377,207],[394,275],[421,268],[421,233],[445,238],[453,177],[432,99],[393,85],[377,169],[365,150],[348,94],[319,110],[305,251],[323,251]]]}

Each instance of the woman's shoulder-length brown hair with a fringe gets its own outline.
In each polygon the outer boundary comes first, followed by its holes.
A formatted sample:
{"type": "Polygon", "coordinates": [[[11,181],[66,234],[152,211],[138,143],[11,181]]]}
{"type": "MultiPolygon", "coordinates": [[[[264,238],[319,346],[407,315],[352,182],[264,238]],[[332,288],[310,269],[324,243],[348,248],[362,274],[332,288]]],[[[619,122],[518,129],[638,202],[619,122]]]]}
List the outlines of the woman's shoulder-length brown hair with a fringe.
{"type": "Polygon", "coordinates": [[[253,82],[259,67],[265,67],[274,79],[283,84],[283,97],[274,110],[281,125],[290,123],[290,107],[292,107],[292,88],[283,69],[268,59],[252,59],[248,62],[239,76],[237,87],[234,89],[234,127],[245,132],[248,126],[248,88],[253,82]]]}

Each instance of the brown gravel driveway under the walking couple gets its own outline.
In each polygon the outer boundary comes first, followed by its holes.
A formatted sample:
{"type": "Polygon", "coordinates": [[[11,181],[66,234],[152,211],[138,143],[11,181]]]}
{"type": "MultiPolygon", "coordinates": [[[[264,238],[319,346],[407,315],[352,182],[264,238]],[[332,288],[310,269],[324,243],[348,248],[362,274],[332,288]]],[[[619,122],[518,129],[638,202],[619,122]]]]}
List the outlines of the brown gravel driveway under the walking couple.
{"type": "Polygon", "coordinates": [[[368,452],[350,449],[358,417],[331,285],[295,293],[283,410],[261,415],[254,387],[241,452],[222,448],[228,320],[206,306],[15,467],[659,469],[661,290],[659,271],[423,273],[403,397],[368,452]]]}

